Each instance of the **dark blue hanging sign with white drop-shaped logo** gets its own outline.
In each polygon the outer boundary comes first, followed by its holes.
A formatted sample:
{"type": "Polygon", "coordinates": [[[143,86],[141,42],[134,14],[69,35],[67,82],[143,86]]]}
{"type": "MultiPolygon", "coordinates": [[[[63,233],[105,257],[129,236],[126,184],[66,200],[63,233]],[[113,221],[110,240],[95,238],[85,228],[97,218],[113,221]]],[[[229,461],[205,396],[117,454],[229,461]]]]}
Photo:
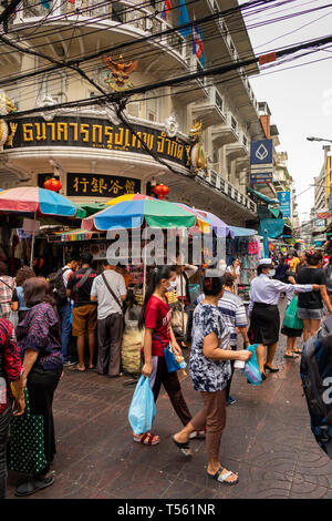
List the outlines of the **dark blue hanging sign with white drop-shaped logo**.
{"type": "Polygon", "coordinates": [[[252,141],[250,145],[250,183],[262,184],[273,181],[272,140],[252,141]]]}

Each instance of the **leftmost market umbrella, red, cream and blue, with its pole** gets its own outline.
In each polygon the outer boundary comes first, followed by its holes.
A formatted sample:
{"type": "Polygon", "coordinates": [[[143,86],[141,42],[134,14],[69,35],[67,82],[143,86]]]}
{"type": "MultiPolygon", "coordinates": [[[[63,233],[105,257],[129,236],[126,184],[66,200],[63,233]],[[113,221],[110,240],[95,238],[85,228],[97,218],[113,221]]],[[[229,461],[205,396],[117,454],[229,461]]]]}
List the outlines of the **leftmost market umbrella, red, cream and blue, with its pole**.
{"type": "MultiPolygon", "coordinates": [[[[0,193],[0,212],[31,214],[35,221],[37,216],[43,215],[73,217],[76,214],[76,207],[70,200],[56,192],[38,186],[21,186],[0,193]]],[[[33,260],[34,236],[35,229],[33,227],[30,266],[33,260]]]]}

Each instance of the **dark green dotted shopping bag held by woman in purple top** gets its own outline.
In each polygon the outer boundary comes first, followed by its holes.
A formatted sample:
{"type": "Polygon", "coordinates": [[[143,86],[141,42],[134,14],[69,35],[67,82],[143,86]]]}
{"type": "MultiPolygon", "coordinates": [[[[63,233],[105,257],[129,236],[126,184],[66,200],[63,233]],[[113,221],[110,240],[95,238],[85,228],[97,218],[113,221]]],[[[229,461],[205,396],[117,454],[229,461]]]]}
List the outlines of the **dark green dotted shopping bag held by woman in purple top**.
{"type": "Polygon", "coordinates": [[[8,468],[37,474],[48,467],[44,451],[44,418],[31,415],[28,389],[24,389],[25,410],[11,420],[8,443],[8,468]]]}

